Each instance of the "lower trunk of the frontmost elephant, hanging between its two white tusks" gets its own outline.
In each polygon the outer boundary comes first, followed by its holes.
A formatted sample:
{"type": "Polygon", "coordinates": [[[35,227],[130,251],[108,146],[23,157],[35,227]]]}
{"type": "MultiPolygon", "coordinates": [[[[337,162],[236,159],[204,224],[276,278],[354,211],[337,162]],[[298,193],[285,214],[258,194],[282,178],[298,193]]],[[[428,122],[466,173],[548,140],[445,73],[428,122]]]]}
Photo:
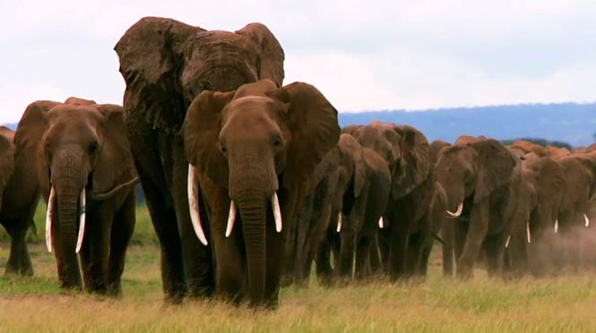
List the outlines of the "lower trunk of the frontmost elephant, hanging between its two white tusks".
{"type": "Polygon", "coordinates": [[[239,199],[248,271],[248,298],[252,305],[263,303],[266,280],[265,239],[267,201],[264,199],[239,199]]]}

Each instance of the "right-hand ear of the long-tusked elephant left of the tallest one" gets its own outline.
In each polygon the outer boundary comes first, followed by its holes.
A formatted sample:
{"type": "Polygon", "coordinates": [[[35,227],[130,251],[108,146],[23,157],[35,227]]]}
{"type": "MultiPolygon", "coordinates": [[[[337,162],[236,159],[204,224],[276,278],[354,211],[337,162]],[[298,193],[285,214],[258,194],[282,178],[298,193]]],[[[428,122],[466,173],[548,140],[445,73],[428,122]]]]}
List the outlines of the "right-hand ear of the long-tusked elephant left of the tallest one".
{"type": "Polygon", "coordinates": [[[136,176],[124,123],[124,109],[113,104],[96,106],[103,115],[103,142],[93,169],[93,192],[109,192],[136,176]]]}

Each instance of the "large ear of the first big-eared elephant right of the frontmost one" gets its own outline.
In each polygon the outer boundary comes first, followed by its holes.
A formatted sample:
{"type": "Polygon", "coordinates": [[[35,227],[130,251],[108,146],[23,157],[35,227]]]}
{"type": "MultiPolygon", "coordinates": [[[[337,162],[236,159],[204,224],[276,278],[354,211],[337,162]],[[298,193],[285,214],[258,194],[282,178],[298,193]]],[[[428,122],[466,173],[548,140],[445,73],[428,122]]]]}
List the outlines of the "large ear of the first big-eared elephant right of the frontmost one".
{"type": "Polygon", "coordinates": [[[393,131],[400,137],[399,147],[402,157],[396,166],[399,170],[392,180],[393,199],[409,194],[422,184],[430,173],[430,145],[427,138],[419,130],[408,126],[394,126],[393,131]]]}

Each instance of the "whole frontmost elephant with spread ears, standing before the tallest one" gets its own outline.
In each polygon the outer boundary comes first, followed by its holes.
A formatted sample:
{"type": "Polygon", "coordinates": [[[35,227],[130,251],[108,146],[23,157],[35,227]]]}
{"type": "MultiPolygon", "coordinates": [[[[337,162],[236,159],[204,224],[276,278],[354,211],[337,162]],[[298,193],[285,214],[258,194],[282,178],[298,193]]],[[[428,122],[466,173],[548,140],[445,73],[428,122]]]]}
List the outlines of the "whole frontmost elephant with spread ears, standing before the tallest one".
{"type": "Polygon", "coordinates": [[[340,138],[337,111],[312,85],[260,80],[203,91],[182,132],[191,216],[202,237],[202,207],[208,216],[218,295],[276,307],[287,234],[340,138]]]}

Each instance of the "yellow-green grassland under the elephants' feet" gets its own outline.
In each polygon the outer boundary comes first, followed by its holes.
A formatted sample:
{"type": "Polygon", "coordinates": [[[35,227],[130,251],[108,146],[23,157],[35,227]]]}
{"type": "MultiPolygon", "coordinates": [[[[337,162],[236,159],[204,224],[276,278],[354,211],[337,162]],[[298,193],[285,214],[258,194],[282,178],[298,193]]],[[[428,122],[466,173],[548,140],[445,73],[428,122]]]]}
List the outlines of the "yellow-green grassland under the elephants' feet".
{"type": "MultiPolygon", "coordinates": [[[[43,208],[37,225],[43,229],[43,208]]],[[[39,230],[42,233],[43,230],[39,230]]],[[[151,223],[139,209],[134,242],[127,256],[125,295],[113,300],[64,294],[56,264],[30,235],[35,277],[0,277],[0,332],[12,331],[594,331],[596,277],[583,272],[564,277],[490,279],[479,269],[468,282],[441,277],[438,258],[425,283],[377,281],[281,291],[275,312],[254,312],[217,301],[162,302],[159,247],[151,223]]],[[[9,243],[0,235],[0,269],[9,243]]]]}

